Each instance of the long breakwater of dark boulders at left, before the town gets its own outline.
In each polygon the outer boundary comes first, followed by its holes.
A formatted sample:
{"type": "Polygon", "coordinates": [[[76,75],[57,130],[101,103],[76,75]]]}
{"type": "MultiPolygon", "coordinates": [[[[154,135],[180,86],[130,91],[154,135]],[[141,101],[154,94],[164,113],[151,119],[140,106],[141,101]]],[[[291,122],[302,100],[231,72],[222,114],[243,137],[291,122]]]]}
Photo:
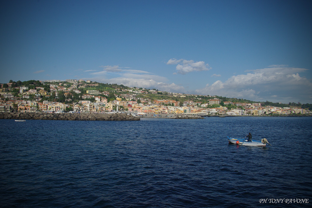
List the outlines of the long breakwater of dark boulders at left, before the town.
{"type": "Polygon", "coordinates": [[[29,120],[70,120],[70,121],[139,121],[140,118],[128,114],[89,113],[0,113],[0,119],[29,120]]]}

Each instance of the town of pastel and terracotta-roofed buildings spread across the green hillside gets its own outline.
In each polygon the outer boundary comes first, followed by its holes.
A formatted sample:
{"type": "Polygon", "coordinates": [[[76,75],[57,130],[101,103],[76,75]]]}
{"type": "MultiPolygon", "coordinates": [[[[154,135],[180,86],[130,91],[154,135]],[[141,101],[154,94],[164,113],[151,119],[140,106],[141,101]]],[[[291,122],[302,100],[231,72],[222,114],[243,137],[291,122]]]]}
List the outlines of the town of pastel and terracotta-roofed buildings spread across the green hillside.
{"type": "Polygon", "coordinates": [[[101,84],[90,80],[4,83],[0,88],[0,112],[124,112],[135,116],[149,114],[154,116],[160,114],[200,116],[312,114],[311,110],[298,107],[276,107],[260,102],[233,102],[218,99],[217,96],[171,93],[123,85],[119,85],[113,90],[96,90],[101,84]],[[85,93],[82,93],[81,90],[85,93]],[[147,96],[162,94],[168,95],[168,99],[150,99],[147,96]]]}

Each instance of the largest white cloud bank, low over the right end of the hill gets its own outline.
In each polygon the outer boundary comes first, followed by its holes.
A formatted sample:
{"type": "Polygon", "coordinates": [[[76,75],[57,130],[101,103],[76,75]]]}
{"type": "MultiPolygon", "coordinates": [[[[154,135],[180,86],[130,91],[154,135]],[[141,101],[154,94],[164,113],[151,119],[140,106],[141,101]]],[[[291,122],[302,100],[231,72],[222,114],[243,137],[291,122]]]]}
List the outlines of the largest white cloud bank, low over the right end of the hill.
{"type": "Polygon", "coordinates": [[[235,75],[225,82],[220,80],[197,89],[199,94],[221,95],[272,102],[312,102],[312,83],[299,73],[307,69],[285,65],[271,65],[265,69],[250,70],[244,75],[235,75]],[[271,94],[274,94],[273,96],[271,94]]]}

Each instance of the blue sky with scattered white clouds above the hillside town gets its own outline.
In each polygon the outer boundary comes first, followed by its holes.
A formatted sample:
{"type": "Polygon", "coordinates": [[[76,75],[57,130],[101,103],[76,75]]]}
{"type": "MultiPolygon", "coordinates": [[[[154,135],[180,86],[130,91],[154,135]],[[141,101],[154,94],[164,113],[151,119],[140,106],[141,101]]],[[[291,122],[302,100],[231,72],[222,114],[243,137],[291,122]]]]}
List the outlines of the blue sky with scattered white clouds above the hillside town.
{"type": "Polygon", "coordinates": [[[5,1],[0,83],[312,103],[311,1],[5,1]]]}

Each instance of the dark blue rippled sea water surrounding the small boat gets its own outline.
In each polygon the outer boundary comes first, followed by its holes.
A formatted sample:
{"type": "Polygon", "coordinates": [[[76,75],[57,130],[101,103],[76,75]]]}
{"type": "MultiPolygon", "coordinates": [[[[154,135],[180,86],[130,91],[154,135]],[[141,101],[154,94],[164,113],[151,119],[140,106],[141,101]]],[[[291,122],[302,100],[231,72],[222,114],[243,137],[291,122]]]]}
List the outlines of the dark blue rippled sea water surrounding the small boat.
{"type": "Polygon", "coordinates": [[[1,207],[312,203],[312,118],[0,120],[0,126],[1,207]],[[227,136],[249,132],[272,146],[228,144],[227,136]]]}

